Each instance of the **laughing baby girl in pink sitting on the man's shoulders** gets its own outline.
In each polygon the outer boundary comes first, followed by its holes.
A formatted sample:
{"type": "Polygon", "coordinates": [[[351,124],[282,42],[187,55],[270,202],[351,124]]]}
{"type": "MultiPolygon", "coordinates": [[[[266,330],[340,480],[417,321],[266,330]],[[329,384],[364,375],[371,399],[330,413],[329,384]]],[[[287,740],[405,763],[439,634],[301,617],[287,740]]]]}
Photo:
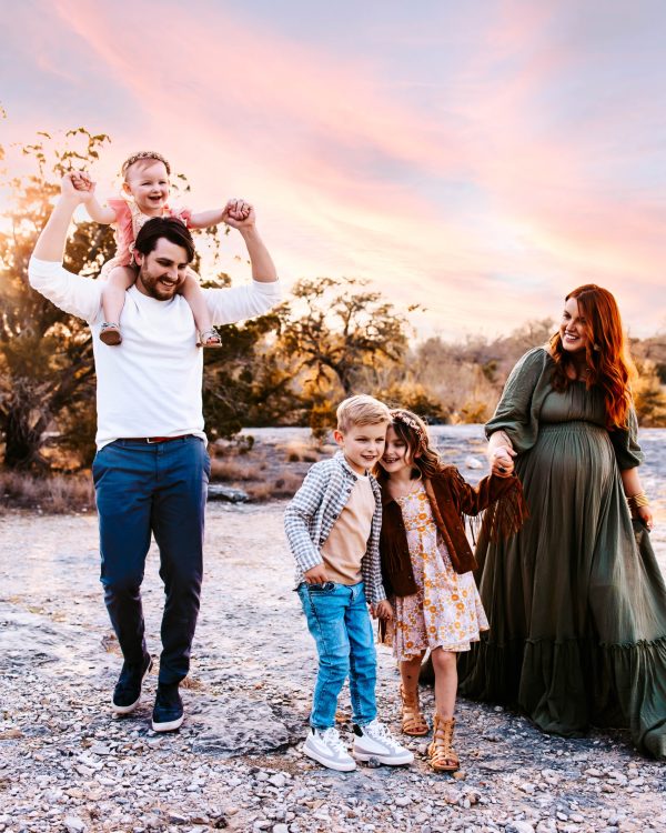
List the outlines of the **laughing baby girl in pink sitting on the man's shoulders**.
{"type": "MultiPolygon", "coordinates": [[[[94,183],[87,173],[78,172],[73,178],[74,185],[88,191],[85,208],[90,217],[99,223],[115,227],[115,257],[107,261],[100,278],[107,281],[102,291],[104,323],[100,339],[104,344],[115,345],[122,342],[120,332],[120,313],[124,305],[125,290],[137,280],[137,265],[133,258],[134,240],[141,227],[153,217],[174,217],[189,229],[205,229],[216,225],[224,219],[225,209],[213,209],[192,213],[189,209],[171,209],[169,199],[169,175],[171,168],[164,157],[153,151],[134,153],[123,162],[122,199],[109,200],[102,207],[94,195],[94,183]]],[[[244,219],[244,218],[239,218],[244,219]]],[[[202,347],[220,347],[221,339],[213,329],[213,323],[199,285],[199,278],[188,270],[185,282],[179,292],[184,295],[192,309],[196,330],[202,347]]]]}

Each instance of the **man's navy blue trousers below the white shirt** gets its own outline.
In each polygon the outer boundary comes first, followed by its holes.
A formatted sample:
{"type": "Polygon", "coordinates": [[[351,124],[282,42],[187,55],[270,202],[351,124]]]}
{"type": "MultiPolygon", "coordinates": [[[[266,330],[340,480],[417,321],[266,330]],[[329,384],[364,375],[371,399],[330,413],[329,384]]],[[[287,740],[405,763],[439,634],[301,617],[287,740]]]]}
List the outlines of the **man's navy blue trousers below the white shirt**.
{"type": "Polygon", "coordinates": [[[145,653],[141,582],[151,533],[160,550],[161,683],[178,683],[190,669],[209,474],[205,443],[196,436],[154,444],[117,440],[92,464],[104,601],[128,663],[140,663],[145,653]]]}

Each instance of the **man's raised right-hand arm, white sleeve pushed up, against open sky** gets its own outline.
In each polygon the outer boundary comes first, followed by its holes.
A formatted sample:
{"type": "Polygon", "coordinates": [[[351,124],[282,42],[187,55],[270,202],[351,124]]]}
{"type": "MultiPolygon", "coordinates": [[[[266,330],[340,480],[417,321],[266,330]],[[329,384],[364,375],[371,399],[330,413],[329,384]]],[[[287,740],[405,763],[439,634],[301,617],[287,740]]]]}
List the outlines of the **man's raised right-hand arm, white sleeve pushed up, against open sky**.
{"type": "Polygon", "coordinates": [[[280,301],[275,264],[256,230],[252,205],[243,200],[230,200],[224,209],[223,222],[238,229],[245,241],[252,283],[249,287],[204,290],[214,324],[230,324],[263,315],[280,301]]]}

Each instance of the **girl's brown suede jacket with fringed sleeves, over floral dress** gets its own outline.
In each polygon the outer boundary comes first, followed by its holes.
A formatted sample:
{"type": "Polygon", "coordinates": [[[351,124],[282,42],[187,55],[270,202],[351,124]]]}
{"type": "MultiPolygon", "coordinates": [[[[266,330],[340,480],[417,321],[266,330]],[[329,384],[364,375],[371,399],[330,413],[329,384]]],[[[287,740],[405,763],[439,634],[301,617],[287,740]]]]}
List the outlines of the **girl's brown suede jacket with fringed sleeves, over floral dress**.
{"type": "MultiPolygon", "coordinates": [[[[400,505],[391,498],[385,482],[382,486],[382,532],[380,554],[382,581],[386,595],[412,595],[416,582],[407,546],[407,534],[400,505]]],[[[476,486],[465,482],[454,465],[444,466],[432,480],[424,480],[433,520],[444,539],[456,573],[476,569],[476,559],[465,534],[464,515],[477,515],[486,510],[481,534],[493,541],[517,532],[527,518],[523,485],[514,475],[483,478],[476,486]]]]}

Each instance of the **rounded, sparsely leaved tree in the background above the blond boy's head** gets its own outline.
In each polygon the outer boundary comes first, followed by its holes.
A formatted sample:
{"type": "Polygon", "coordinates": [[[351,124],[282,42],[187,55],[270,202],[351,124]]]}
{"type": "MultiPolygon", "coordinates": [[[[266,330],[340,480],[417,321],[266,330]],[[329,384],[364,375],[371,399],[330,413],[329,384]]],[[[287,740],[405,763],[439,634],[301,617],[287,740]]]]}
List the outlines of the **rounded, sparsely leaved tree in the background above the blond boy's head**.
{"type": "Polygon", "coordinates": [[[362,371],[376,375],[382,364],[398,363],[405,353],[407,319],[366,284],[352,278],[304,279],[294,285],[293,300],[278,309],[280,348],[314,393],[339,384],[349,397],[362,371]]]}

